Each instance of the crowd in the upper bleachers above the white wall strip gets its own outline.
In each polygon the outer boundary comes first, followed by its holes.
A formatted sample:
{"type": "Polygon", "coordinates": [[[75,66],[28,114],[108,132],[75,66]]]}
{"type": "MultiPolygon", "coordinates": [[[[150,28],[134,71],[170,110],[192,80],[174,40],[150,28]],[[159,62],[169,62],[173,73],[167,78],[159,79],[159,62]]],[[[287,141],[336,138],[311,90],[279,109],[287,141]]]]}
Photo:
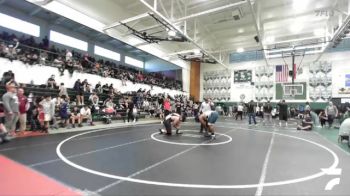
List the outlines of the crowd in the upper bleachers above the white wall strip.
{"type": "Polygon", "coordinates": [[[65,70],[91,73],[103,77],[120,79],[123,85],[126,81],[133,83],[160,86],[173,90],[182,90],[182,82],[165,77],[161,73],[145,73],[140,70],[118,65],[113,61],[97,59],[89,54],[74,50],[59,49],[49,44],[47,37],[37,43],[33,37],[21,36],[2,32],[0,34],[0,57],[20,60],[26,64],[41,64],[54,66],[61,74],[65,70]]]}

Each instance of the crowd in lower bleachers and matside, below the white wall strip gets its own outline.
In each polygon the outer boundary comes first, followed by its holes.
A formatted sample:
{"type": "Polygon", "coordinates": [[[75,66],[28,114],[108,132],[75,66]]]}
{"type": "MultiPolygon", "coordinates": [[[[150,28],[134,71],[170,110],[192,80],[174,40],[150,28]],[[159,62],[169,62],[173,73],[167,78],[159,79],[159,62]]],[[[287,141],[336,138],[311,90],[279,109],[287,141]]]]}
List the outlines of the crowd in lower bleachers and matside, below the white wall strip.
{"type": "Polygon", "coordinates": [[[112,84],[91,87],[87,80],[77,80],[73,88],[66,88],[64,83],[57,85],[54,76],[44,86],[18,84],[12,71],[5,72],[1,81],[6,89],[0,92],[1,123],[5,125],[1,129],[11,135],[25,130],[48,132],[50,127],[82,127],[84,121],[93,126],[95,120],[110,123],[121,119],[127,123],[142,115],[163,118],[172,111],[192,115],[193,102],[183,95],[151,95],[144,89],[122,94],[112,84]],[[166,108],[168,103],[173,108],[166,108]]]}

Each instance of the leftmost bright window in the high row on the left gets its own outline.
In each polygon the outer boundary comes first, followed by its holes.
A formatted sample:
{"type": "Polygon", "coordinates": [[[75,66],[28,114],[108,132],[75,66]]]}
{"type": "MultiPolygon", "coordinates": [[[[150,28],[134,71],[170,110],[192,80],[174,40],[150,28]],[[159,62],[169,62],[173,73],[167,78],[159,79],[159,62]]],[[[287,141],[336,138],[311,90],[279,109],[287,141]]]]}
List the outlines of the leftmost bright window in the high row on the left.
{"type": "Polygon", "coordinates": [[[40,26],[2,13],[0,13],[0,26],[35,37],[40,36],[40,26]]]}

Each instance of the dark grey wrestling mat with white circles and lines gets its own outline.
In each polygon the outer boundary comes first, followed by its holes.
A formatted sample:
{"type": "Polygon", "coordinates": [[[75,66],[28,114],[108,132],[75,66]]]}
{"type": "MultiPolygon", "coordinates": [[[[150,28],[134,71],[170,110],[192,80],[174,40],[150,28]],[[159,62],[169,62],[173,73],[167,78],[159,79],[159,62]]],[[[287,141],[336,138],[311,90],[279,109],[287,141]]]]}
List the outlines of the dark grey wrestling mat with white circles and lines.
{"type": "Polygon", "coordinates": [[[87,195],[349,195],[350,156],[316,132],[221,118],[21,138],[0,154],[87,195]]]}

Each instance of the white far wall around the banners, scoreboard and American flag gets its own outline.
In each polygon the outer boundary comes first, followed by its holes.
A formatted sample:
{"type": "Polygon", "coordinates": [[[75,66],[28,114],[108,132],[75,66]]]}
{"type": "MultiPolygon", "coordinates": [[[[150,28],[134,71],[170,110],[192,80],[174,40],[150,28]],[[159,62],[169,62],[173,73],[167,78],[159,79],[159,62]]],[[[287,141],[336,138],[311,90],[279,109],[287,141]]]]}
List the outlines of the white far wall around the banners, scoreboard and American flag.
{"type": "MultiPolygon", "coordinates": [[[[309,83],[309,64],[315,61],[317,58],[317,55],[308,55],[305,56],[304,59],[302,57],[296,57],[295,63],[297,66],[299,66],[301,60],[302,60],[302,68],[303,73],[300,75],[297,75],[297,79],[295,82],[307,82],[309,83]]],[[[292,60],[291,58],[285,59],[286,63],[291,65],[292,60]]],[[[333,52],[333,53],[325,53],[319,61],[328,61],[332,63],[332,96],[333,97],[349,97],[349,95],[339,95],[338,89],[341,87],[345,87],[345,74],[350,74],[350,52],[333,52]]],[[[284,60],[282,58],[277,59],[271,59],[269,60],[269,65],[274,66],[275,65],[282,65],[285,64],[284,60]]],[[[229,64],[229,70],[240,70],[240,69],[251,69],[253,73],[253,82],[256,82],[255,77],[255,68],[259,66],[266,66],[265,60],[259,60],[259,61],[247,61],[247,62],[240,62],[240,63],[234,63],[229,64]]],[[[200,80],[203,81],[203,73],[206,71],[213,71],[213,70],[223,70],[224,67],[220,65],[213,65],[213,64],[202,64],[201,67],[201,75],[200,80]]],[[[275,69],[275,68],[274,68],[275,69]]],[[[275,74],[275,73],[274,73],[275,74]]],[[[231,101],[232,102],[238,102],[240,101],[239,96],[241,94],[245,94],[246,99],[245,101],[254,99],[255,89],[250,84],[234,84],[233,83],[233,73],[231,77],[231,101]]],[[[291,78],[289,78],[291,82],[291,78]]],[[[272,77],[272,82],[275,84],[275,75],[272,77]]],[[[201,99],[203,99],[203,82],[200,84],[201,89],[201,99]]],[[[274,87],[275,88],[275,87],[274,87]]],[[[273,89],[274,99],[275,100],[275,89],[273,89]]],[[[307,91],[307,100],[287,100],[292,102],[305,102],[309,101],[309,95],[307,91]]]]}

